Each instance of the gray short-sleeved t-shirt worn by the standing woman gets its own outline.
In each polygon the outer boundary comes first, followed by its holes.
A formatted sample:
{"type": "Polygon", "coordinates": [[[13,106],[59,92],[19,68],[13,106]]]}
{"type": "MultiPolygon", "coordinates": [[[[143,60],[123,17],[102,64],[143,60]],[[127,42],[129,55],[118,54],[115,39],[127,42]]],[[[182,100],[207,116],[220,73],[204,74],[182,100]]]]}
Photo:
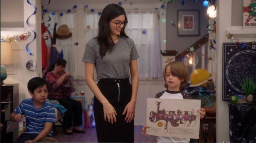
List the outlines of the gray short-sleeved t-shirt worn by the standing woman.
{"type": "Polygon", "coordinates": [[[139,58],[138,52],[131,38],[118,36],[119,40],[112,51],[107,51],[101,58],[99,55],[98,39],[87,42],[83,55],[83,62],[93,63],[96,67],[98,80],[102,78],[124,79],[130,77],[129,63],[139,58]]]}

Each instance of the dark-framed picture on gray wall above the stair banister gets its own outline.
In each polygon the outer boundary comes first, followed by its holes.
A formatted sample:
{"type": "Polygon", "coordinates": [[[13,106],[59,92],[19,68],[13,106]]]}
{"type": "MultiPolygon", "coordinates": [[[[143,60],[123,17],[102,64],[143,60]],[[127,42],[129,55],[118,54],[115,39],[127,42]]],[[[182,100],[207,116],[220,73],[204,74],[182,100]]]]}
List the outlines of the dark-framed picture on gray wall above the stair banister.
{"type": "Polygon", "coordinates": [[[199,35],[199,10],[178,10],[178,36],[199,35]]]}

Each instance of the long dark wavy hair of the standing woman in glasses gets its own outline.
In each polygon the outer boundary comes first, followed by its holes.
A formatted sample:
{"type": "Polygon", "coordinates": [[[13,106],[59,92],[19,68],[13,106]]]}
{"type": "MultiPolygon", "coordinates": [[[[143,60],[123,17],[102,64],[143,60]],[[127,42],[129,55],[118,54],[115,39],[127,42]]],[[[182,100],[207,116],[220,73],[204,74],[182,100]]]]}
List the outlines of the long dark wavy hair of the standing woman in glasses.
{"type": "MultiPolygon", "coordinates": [[[[108,4],[101,13],[99,18],[99,34],[95,37],[99,42],[99,55],[101,55],[101,58],[106,55],[107,51],[111,51],[115,45],[110,35],[109,22],[120,15],[124,15],[125,20],[127,20],[124,8],[117,4],[108,4]]],[[[124,28],[125,26],[122,28],[120,35],[128,38],[124,28]]]]}

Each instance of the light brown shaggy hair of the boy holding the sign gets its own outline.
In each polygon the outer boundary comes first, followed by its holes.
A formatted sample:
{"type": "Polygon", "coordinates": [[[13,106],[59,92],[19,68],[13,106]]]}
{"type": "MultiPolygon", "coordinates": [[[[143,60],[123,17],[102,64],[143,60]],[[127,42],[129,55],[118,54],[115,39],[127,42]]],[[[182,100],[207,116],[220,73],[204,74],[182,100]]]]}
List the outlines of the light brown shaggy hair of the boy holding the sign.
{"type": "MultiPolygon", "coordinates": [[[[163,80],[166,77],[166,68],[170,67],[171,74],[173,76],[177,76],[179,80],[184,80],[181,82],[180,90],[184,90],[186,85],[188,84],[188,68],[183,62],[173,61],[168,63],[163,70],[163,80]]],[[[168,89],[168,86],[165,81],[165,88],[168,89]]]]}

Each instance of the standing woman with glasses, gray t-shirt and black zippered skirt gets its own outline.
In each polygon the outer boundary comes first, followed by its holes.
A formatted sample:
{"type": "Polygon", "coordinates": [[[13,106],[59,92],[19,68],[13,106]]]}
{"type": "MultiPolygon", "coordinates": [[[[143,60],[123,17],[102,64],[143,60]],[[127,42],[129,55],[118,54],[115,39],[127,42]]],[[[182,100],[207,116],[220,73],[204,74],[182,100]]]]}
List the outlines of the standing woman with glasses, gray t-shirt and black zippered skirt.
{"type": "Polygon", "coordinates": [[[94,93],[98,142],[134,142],[138,92],[138,52],[124,32],[124,8],[107,5],[99,19],[99,33],[86,44],[83,56],[86,82],[94,93]],[[94,82],[94,66],[98,84],[94,82]],[[129,77],[131,73],[131,82],[129,77]]]}

